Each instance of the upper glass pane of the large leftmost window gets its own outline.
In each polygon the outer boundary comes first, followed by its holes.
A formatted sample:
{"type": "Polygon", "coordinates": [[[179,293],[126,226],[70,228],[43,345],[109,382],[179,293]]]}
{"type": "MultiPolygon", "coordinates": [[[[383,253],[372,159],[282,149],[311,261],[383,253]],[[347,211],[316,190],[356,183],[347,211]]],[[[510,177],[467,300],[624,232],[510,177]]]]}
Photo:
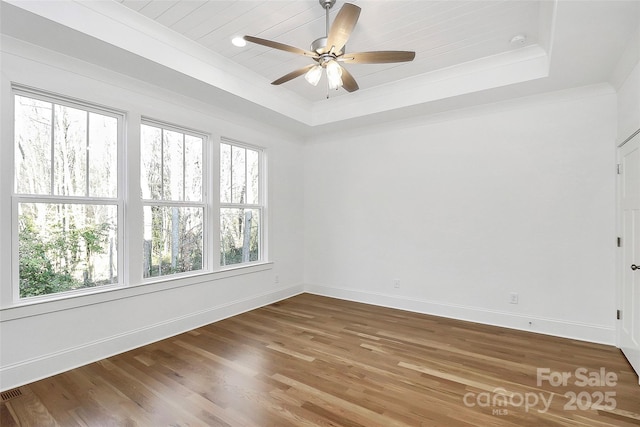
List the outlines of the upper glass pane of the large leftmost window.
{"type": "Polygon", "coordinates": [[[15,95],[16,193],[117,197],[118,118],[15,95]]]}

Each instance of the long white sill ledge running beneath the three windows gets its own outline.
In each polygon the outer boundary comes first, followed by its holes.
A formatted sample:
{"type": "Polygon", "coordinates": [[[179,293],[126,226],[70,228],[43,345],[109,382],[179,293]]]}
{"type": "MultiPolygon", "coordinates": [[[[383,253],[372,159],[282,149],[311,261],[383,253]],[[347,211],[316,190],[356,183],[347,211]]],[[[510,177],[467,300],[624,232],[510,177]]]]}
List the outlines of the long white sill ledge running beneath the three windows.
{"type": "Polygon", "coordinates": [[[273,262],[259,262],[249,265],[234,265],[224,269],[201,273],[197,275],[177,278],[162,278],[154,281],[144,281],[133,286],[117,286],[96,290],[91,293],[78,295],[52,296],[46,300],[21,301],[0,309],[0,322],[17,320],[25,317],[39,316],[56,311],[69,310],[77,307],[101,304],[109,301],[135,297],[154,292],[162,292],[185,286],[193,286],[204,282],[223,280],[229,277],[253,274],[273,269],[273,262]]]}

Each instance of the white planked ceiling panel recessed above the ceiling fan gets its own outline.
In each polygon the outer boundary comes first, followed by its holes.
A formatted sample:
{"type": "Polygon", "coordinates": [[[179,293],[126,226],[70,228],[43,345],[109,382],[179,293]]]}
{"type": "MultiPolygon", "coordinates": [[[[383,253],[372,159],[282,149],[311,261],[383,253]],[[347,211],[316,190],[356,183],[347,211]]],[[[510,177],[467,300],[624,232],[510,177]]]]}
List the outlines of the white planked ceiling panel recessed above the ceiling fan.
{"type": "MultiPolygon", "coordinates": [[[[231,44],[235,36],[253,35],[309,49],[326,35],[325,11],[308,1],[158,1],[116,0],[145,17],[273,81],[312,60],[249,44],[231,44]]],[[[366,1],[351,0],[362,12],[349,40],[350,52],[412,50],[416,59],[402,64],[345,65],[363,89],[536,44],[538,1],[366,1]],[[525,44],[512,46],[516,35],[525,44]]],[[[331,9],[330,21],[344,2],[331,9]]],[[[287,87],[309,101],[326,96],[326,85],[303,78],[287,87]]],[[[331,96],[344,95],[344,90],[331,96]]]]}

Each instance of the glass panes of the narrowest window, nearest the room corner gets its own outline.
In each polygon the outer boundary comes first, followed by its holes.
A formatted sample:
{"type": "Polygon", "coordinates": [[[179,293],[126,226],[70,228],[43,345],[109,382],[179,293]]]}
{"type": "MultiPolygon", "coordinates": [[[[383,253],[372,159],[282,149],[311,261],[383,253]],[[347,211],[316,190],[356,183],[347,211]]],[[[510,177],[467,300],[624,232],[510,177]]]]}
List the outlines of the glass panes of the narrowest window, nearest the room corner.
{"type": "Polygon", "coordinates": [[[262,259],[262,151],[220,144],[220,265],[262,259]]]}

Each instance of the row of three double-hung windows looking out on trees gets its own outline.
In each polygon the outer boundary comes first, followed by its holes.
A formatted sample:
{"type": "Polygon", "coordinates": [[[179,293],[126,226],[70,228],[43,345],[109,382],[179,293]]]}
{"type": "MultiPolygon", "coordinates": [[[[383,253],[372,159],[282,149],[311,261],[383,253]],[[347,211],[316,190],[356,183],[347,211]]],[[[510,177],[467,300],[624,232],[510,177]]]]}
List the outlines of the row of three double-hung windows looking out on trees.
{"type": "Polygon", "coordinates": [[[19,85],[11,96],[14,299],[264,260],[262,149],[223,139],[218,183],[204,133],[143,118],[139,141],[130,141],[138,163],[125,156],[123,112],[19,85]],[[125,171],[139,174],[139,195],[125,171]],[[219,201],[211,185],[220,186],[219,201]],[[129,257],[136,263],[130,270],[124,254],[131,248],[142,254],[129,257]]]}

